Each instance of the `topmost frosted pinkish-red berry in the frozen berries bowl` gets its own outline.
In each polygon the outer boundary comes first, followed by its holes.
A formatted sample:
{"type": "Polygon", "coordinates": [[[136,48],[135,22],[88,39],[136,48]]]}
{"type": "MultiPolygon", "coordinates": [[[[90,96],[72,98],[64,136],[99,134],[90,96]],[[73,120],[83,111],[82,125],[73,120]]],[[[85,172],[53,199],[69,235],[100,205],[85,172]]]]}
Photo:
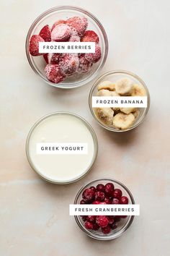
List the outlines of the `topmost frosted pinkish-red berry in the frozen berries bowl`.
{"type": "Polygon", "coordinates": [[[86,17],[71,17],[66,21],[66,24],[70,27],[74,27],[77,33],[82,36],[88,25],[86,17]]]}

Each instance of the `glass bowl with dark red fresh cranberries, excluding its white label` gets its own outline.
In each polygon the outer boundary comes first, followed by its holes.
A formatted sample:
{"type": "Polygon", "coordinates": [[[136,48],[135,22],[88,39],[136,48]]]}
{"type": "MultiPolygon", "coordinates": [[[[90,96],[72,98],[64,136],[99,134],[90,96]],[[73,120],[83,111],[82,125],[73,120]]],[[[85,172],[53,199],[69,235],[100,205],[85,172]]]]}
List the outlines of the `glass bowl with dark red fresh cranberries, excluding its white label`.
{"type": "MultiPolygon", "coordinates": [[[[74,204],[135,204],[130,190],[113,179],[97,179],[81,187],[74,204]]],[[[88,236],[111,240],[122,235],[134,216],[75,216],[76,223],[88,236]]]]}

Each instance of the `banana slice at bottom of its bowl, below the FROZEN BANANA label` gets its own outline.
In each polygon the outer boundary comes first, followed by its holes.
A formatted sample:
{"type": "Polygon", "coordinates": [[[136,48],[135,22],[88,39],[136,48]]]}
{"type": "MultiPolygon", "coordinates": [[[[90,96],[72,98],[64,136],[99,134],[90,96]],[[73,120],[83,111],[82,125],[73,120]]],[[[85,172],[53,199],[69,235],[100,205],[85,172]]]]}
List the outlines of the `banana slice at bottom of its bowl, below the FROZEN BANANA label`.
{"type": "Polygon", "coordinates": [[[132,113],[128,115],[124,113],[119,113],[113,117],[112,124],[118,129],[125,130],[131,127],[134,121],[135,116],[133,116],[132,113]]]}

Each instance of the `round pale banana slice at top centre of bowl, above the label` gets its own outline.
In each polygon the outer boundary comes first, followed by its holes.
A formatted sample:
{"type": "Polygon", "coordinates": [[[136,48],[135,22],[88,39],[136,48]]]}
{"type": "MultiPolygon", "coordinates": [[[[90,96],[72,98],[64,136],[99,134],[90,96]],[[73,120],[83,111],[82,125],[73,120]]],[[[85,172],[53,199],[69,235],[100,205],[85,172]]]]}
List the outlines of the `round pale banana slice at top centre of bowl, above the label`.
{"type": "Polygon", "coordinates": [[[128,77],[122,78],[116,82],[115,88],[120,95],[129,95],[133,90],[133,82],[128,77]]]}

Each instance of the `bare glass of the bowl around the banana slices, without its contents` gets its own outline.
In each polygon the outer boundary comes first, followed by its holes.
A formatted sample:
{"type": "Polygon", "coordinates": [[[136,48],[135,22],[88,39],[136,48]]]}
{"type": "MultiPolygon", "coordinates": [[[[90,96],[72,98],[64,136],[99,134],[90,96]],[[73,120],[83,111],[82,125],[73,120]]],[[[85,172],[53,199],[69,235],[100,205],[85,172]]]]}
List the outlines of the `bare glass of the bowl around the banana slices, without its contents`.
{"type": "Polygon", "coordinates": [[[92,86],[91,91],[89,93],[89,108],[90,108],[91,114],[94,116],[94,119],[96,119],[102,127],[112,132],[127,132],[130,129],[134,129],[135,127],[138,127],[138,125],[141,124],[145,119],[146,114],[148,114],[149,107],[150,107],[150,95],[145,82],[143,82],[143,80],[141,80],[141,78],[138,77],[138,75],[125,70],[115,70],[115,71],[111,71],[103,74],[101,77],[97,79],[96,82],[94,82],[94,85],[92,86]],[[92,108],[91,102],[92,102],[92,97],[97,95],[97,86],[99,85],[99,83],[103,81],[108,81],[108,80],[110,82],[115,83],[117,80],[120,80],[121,78],[125,78],[125,77],[130,78],[130,80],[132,80],[134,83],[138,85],[142,85],[143,88],[145,88],[148,105],[147,105],[147,108],[138,108],[140,111],[132,127],[128,129],[117,129],[115,127],[107,126],[107,124],[104,124],[104,122],[98,118],[96,113],[97,108],[92,108]]]}

